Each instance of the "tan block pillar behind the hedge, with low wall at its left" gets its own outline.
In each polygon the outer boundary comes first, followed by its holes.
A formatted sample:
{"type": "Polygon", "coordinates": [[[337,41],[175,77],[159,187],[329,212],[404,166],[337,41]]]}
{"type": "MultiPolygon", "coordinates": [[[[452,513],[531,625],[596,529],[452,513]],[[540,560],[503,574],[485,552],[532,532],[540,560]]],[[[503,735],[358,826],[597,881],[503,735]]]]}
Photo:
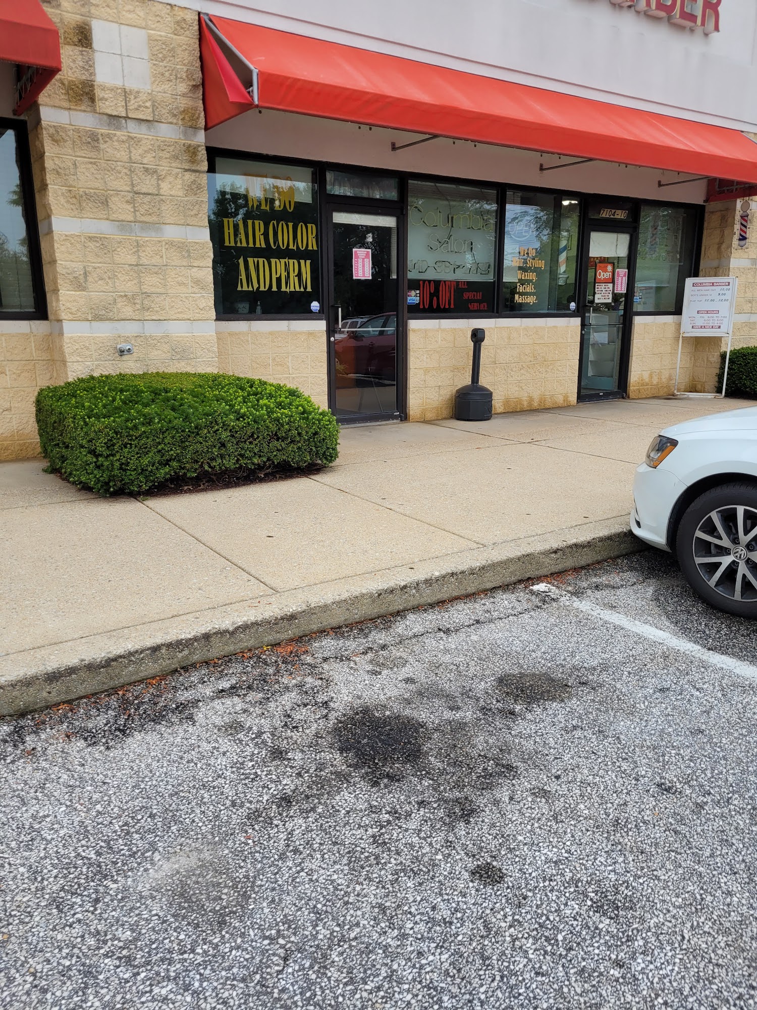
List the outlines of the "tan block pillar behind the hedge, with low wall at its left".
{"type": "Polygon", "coordinates": [[[3,360],[4,458],[36,446],[32,372],[38,386],[217,369],[197,12],[154,0],[42,5],[63,53],[63,72],[28,116],[50,322],[43,349],[26,324],[0,333],[16,356],[3,360]],[[129,78],[126,42],[105,52],[104,29],[142,46],[141,80],[129,78]],[[103,66],[123,82],[104,82],[103,66]],[[122,342],[134,354],[119,357],[122,342]]]}

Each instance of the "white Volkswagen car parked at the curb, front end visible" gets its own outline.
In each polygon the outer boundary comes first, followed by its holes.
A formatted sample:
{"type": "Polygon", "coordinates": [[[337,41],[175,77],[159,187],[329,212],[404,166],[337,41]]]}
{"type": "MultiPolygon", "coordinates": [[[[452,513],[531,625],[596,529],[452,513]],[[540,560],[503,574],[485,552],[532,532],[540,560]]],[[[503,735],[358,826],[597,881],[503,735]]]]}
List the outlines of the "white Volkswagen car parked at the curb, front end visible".
{"type": "Polygon", "coordinates": [[[631,529],[702,600],[757,617],[757,407],[665,428],[634,479],[631,529]]]}

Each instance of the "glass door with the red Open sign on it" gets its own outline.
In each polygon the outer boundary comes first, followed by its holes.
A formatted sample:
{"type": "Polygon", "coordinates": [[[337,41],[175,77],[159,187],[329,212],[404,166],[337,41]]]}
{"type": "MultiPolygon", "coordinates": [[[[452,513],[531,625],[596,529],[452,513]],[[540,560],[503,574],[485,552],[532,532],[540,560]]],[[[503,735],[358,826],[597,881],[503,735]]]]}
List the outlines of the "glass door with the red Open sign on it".
{"type": "Polygon", "coordinates": [[[579,398],[625,394],[631,305],[631,233],[589,226],[581,320],[579,398]]]}

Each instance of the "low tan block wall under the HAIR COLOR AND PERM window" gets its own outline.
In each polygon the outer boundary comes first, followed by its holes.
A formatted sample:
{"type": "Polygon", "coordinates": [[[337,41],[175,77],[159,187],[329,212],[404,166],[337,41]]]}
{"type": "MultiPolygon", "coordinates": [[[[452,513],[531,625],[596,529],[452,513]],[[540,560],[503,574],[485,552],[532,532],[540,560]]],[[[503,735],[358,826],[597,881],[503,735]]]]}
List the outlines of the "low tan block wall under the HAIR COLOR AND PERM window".
{"type": "Polygon", "coordinates": [[[218,368],[296,386],[328,406],[326,329],[307,320],[218,322],[218,368]]]}

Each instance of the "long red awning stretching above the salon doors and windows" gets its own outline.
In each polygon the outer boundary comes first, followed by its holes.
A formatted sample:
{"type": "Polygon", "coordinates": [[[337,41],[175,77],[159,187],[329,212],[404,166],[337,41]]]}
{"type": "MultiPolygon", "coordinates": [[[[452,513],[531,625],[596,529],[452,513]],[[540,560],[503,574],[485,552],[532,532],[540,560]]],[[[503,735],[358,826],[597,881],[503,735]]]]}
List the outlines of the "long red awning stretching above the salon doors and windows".
{"type": "MultiPolygon", "coordinates": [[[[739,130],[211,20],[256,70],[261,108],[757,184],[757,144],[739,130]]],[[[207,76],[206,107],[216,108],[216,92],[207,76]]]]}

